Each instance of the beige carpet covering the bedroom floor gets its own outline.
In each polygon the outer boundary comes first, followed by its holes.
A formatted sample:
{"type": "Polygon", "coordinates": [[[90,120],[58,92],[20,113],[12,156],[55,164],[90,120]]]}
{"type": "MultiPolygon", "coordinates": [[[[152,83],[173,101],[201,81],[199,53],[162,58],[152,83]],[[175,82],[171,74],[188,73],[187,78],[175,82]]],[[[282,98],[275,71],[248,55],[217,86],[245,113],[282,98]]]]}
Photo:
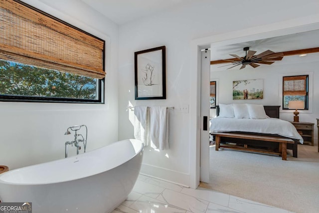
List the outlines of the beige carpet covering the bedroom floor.
{"type": "Polygon", "coordinates": [[[200,187],[296,213],[319,213],[317,144],[298,146],[298,158],[210,147],[210,183],[200,187]]]}

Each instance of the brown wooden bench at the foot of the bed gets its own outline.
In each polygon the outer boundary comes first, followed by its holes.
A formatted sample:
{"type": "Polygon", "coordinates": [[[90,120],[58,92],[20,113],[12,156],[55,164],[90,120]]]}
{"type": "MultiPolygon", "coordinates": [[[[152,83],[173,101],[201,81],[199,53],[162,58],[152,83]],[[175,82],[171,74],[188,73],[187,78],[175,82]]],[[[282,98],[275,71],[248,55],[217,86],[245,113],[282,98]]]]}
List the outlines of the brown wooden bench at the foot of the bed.
{"type": "Polygon", "coordinates": [[[287,144],[295,143],[295,141],[289,138],[279,138],[279,137],[272,137],[272,136],[248,135],[248,134],[237,134],[237,133],[226,133],[226,132],[214,132],[211,134],[215,136],[216,151],[218,151],[219,148],[228,148],[228,149],[243,150],[243,151],[250,151],[250,152],[260,152],[260,153],[267,153],[267,154],[282,156],[283,160],[287,160],[287,144]],[[244,145],[244,147],[232,146],[232,145],[220,145],[221,137],[275,142],[275,143],[279,143],[279,151],[275,152],[275,151],[248,148],[247,145],[244,145]]]}

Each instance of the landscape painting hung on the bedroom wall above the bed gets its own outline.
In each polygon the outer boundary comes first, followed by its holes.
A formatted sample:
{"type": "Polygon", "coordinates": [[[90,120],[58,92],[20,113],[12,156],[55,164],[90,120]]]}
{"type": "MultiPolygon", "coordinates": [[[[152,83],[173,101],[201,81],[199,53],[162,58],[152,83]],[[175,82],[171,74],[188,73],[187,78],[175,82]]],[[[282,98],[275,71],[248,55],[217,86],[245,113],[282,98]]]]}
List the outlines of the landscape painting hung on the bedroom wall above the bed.
{"type": "Polygon", "coordinates": [[[263,79],[233,81],[233,100],[263,99],[263,87],[263,79]]]}

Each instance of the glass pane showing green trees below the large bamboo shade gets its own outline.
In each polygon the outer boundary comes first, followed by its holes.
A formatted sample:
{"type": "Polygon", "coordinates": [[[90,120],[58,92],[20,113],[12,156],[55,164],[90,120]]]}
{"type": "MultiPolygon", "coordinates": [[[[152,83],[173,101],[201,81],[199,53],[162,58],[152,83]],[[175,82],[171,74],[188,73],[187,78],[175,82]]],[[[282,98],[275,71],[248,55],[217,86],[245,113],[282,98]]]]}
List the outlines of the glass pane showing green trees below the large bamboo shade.
{"type": "Polygon", "coordinates": [[[0,60],[2,100],[100,102],[102,81],[36,66],[0,60]]]}

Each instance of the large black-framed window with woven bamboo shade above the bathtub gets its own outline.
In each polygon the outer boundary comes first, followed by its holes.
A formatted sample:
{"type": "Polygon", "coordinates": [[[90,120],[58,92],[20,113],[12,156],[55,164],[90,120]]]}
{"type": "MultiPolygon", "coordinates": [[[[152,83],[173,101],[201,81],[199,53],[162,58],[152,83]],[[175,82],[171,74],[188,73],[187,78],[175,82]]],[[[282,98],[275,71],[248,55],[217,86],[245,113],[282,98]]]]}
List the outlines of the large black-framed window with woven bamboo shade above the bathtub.
{"type": "Polygon", "coordinates": [[[19,0],[0,25],[0,101],[103,103],[104,40],[19,0]]]}

